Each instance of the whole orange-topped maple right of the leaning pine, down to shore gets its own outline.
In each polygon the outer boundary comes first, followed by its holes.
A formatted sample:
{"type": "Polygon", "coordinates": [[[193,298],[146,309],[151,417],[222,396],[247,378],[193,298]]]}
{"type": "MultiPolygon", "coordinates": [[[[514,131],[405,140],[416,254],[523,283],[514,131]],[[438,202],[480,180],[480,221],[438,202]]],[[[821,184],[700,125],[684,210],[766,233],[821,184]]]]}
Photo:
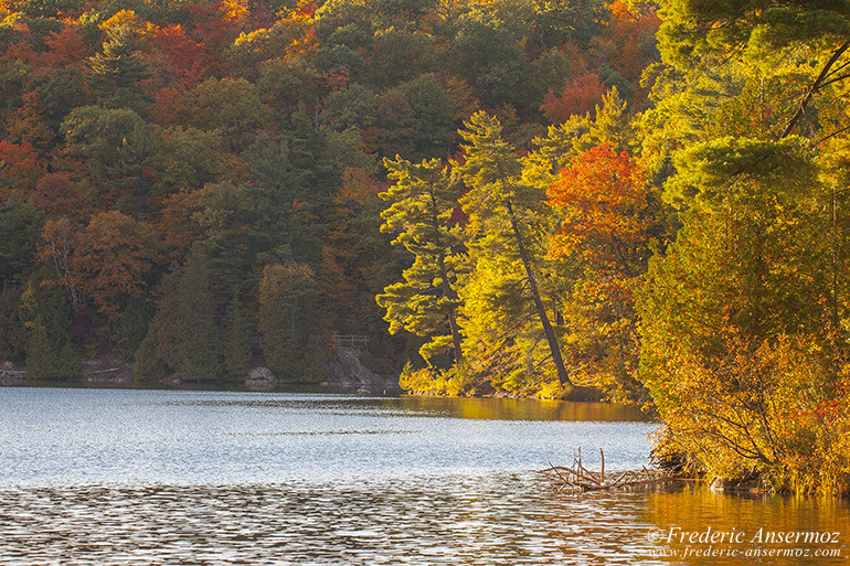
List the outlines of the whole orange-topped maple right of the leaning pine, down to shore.
{"type": "Polygon", "coordinates": [[[647,402],[635,292],[666,244],[658,195],[635,160],[609,146],[573,158],[548,194],[561,221],[549,253],[560,259],[565,356],[609,396],[647,402]]]}

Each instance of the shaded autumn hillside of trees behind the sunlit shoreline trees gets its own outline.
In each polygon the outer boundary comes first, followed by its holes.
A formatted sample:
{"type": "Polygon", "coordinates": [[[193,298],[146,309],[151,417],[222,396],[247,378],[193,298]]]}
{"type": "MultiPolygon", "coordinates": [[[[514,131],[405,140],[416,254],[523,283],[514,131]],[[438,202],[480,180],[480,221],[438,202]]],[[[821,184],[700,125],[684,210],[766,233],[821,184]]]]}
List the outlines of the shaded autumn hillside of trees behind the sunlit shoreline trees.
{"type": "Polygon", "coordinates": [[[383,159],[486,109],[529,147],[607,89],[646,105],[651,15],[602,2],[0,4],[0,359],[41,378],[321,378],[336,334],[397,371],[375,296],[383,159]],[[636,19],[637,18],[637,19],[636,19]]]}

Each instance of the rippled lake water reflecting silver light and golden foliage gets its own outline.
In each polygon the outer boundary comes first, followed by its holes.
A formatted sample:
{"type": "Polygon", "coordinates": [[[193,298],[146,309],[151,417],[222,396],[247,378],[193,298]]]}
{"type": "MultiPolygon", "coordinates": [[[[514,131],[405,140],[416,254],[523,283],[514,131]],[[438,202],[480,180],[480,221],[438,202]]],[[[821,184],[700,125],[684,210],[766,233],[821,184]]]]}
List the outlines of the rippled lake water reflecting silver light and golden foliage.
{"type": "Polygon", "coordinates": [[[599,404],[2,388],[0,564],[850,564],[846,501],[534,471],[578,447],[639,468],[656,428],[599,404]]]}

